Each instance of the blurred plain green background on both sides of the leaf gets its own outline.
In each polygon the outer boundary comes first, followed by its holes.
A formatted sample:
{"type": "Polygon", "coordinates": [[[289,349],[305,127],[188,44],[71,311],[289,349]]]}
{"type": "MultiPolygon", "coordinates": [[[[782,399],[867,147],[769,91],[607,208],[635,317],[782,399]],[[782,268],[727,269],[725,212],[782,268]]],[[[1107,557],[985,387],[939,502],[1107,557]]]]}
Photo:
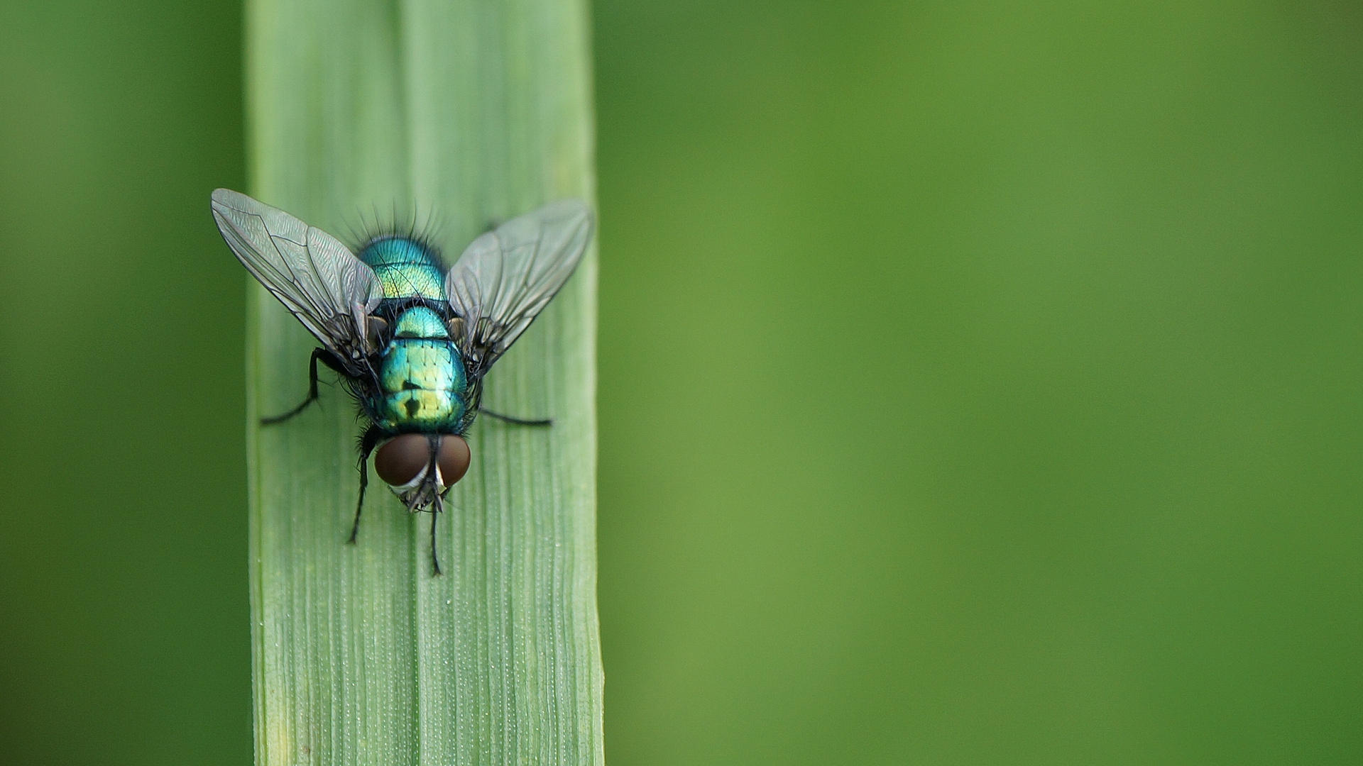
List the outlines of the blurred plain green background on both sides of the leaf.
{"type": "MultiPolygon", "coordinates": [[[[1363,7],[594,16],[612,766],[1363,761],[1363,7]]],[[[251,759],[240,34],[0,5],[4,763],[251,759]]]]}

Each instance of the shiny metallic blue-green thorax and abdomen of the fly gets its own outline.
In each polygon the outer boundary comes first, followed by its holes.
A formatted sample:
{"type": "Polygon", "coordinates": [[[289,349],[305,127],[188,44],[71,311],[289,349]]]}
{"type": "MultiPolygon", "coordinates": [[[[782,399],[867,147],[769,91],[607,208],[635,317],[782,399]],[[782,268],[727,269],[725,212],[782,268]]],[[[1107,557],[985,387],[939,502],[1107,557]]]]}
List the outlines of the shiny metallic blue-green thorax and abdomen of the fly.
{"type": "Polygon", "coordinates": [[[469,384],[463,358],[435,309],[448,305],[444,269],[429,248],[406,237],[369,243],[360,260],[383,284],[380,312],[391,312],[391,341],[379,365],[382,390],[365,409],[388,432],[457,433],[469,384]]]}

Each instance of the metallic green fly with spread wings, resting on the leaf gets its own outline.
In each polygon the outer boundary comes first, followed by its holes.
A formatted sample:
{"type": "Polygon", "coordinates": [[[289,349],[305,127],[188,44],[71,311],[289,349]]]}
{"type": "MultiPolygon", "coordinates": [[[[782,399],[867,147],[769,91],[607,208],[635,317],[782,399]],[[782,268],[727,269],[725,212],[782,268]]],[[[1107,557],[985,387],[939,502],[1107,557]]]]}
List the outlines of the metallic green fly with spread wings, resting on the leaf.
{"type": "Polygon", "coordinates": [[[410,511],[431,512],[431,567],[440,574],[435,522],[469,470],[463,433],[483,412],[483,378],[567,282],[592,239],[578,200],[547,204],[473,240],[453,267],[416,236],[380,234],[358,255],[322,229],[230,189],[213,192],[213,217],[247,271],[322,345],[308,363],[308,397],[260,420],[284,423],[318,398],[318,363],[341,375],[365,423],[360,497],[373,469],[410,511]],[[375,451],[378,450],[378,451],[375,451]]]}

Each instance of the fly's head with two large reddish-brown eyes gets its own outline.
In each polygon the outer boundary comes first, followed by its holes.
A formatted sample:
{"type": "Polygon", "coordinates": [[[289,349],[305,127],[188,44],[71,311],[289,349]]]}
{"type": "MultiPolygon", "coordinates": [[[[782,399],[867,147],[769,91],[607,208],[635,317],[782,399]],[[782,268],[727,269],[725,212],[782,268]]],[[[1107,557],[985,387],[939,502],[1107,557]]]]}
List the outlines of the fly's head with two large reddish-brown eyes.
{"type": "Polygon", "coordinates": [[[440,507],[446,489],[469,470],[469,443],[453,433],[402,433],[379,447],[373,470],[413,511],[440,507]]]}

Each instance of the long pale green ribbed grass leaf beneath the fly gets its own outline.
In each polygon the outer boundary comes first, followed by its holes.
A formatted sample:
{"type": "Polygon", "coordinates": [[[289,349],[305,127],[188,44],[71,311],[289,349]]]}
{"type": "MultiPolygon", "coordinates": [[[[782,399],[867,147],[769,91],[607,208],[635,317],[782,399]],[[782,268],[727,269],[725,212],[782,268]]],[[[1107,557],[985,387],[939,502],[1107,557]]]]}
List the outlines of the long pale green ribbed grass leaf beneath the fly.
{"type": "MultiPolygon", "coordinates": [[[[249,0],[251,194],[342,236],[433,219],[447,258],[492,222],[593,198],[577,0],[249,0]]],[[[354,406],[256,425],[307,391],[311,337],[248,308],[256,762],[601,763],[596,255],[497,363],[473,468],[439,519],[358,474],[354,406]]]]}

